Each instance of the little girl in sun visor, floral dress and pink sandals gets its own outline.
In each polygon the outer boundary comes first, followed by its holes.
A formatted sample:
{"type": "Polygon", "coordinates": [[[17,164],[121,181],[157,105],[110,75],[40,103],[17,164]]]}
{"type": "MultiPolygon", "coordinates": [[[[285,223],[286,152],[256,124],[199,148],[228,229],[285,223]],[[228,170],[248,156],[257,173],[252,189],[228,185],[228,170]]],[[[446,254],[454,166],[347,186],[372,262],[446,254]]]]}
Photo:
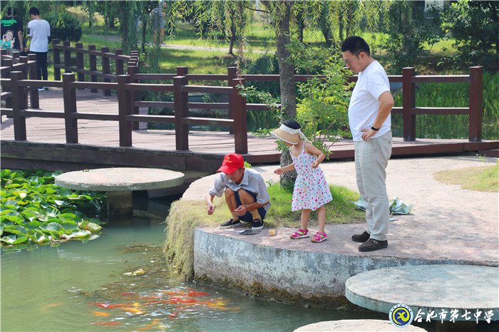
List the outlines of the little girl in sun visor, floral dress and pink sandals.
{"type": "Polygon", "coordinates": [[[323,242],[327,239],[327,234],[324,232],[326,226],[324,204],[333,200],[324,173],[319,167],[325,155],[307,140],[299,123],[294,120],[284,121],[281,127],[272,130],[272,134],[289,146],[289,152],[293,160],[292,164],[279,167],[274,170],[274,173],[281,175],[284,172],[296,170],[298,174],[297,180],[294,182],[291,209],[292,211],[302,210],[302,228],[289,237],[291,239],[309,237],[307,224],[310,212],[317,210],[319,232],[312,237],[312,242],[323,242]]]}

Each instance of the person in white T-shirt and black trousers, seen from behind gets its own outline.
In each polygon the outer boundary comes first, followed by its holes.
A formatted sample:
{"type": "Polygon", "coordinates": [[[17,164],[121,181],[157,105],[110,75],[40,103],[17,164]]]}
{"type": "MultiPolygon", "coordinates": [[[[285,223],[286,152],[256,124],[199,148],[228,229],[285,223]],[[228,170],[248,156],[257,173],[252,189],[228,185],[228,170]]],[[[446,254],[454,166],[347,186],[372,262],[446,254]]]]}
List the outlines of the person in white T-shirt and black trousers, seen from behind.
{"type": "MultiPolygon", "coordinates": [[[[50,37],[50,24],[40,17],[40,11],[36,7],[29,9],[31,21],[28,23],[28,38],[30,53],[36,54],[36,66],[38,71],[38,80],[47,81],[47,53],[48,37],[50,37]]],[[[48,90],[48,88],[38,88],[38,90],[48,90]]]]}

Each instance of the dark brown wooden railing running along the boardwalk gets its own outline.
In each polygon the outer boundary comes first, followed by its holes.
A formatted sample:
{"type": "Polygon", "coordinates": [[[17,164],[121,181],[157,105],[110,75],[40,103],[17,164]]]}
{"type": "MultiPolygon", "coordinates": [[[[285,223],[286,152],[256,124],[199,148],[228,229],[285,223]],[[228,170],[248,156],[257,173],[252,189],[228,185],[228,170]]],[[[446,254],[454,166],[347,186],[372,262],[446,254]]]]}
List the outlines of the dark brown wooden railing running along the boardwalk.
{"type": "MultiPolygon", "coordinates": [[[[56,68],[60,71],[64,69],[68,73],[62,75],[62,81],[37,81],[26,79],[25,71],[9,71],[11,77],[4,78],[2,75],[2,87],[11,88],[11,107],[1,108],[2,115],[11,115],[14,117],[14,139],[26,140],[26,118],[64,118],[66,123],[66,142],[78,143],[77,120],[113,120],[119,123],[120,146],[130,147],[133,145],[132,131],[138,129],[138,123],[174,123],[175,125],[175,147],[176,150],[189,150],[189,125],[222,125],[230,128],[234,133],[235,152],[247,153],[247,110],[267,110],[264,104],[246,103],[237,85],[244,85],[247,81],[279,81],[279,75],[241,75],[237,78],[236,68],[228,68],[227,74],[189,74],[187,67],[177,68],[176,74],[159,73],[139,73],[138,54],[132,56],[123,56],[121,51],[115,53],[108,52],[107,48],[101,51],[84,50],[81,46],[71,48],[59,46],[53,43],[55,49],[65,53],[64,63],[54,58],[56,68]],[[72,66],[71,54],[67,52],[76,51],[76,66],[72,66]],[[87,53],[91,70],[83,68],[83,61],[78,60],[78,54],[83,56],[87,53]],[[102,72],[96,71],[96,59],[93,57],[102,56],[103,68],[109,68],[104,65],[105,59],[114,59],[116,64],[115,73],[109,73],[108,70],[102,72]],[[127,61],[127,74],[123,74],[123,63],[127,61]],[[59,63],[58,63],[59,62],[59,63]],[[78,64],[79,63],[79,64],[78,64]],[[66,66],[67,65],[67,66],[66,66]],[[70,73],[71,71],[76,72],[70,73]],[[97,82],[97,78],[102,82],[97,82]],[[90,78],[90,82],[85,82],[90,78]],[[150,80],[172,80],[173,84],[143,83],[150,80]],[[116,82],[111,82],[116,81],[116,82]],[[207,86],[190,85],[189,81],[227,81],[229,86],[207,86]],[[22,100],[26,100],[26,93],[32,93],[38,86],[58,87],[63,89],[64,113],[53,110],[31,110],[22,100]],[[89,88],[92,91],[103,90],[105,94],[110,90],[116,90],[118,95],[118,114],[98,114],[98,113],[78,113],[76,108],[76,89],[89,88]],[[140,91],[163,91],[173,92],[173,102],[147,101],[140,100],[140,91]],[[229,96],[228,103],[190,103],[188,101],[189,93],[222,93],[229,96]],[[174,108],[175,115],[139,115],[139,107],[160,107],[174,108]],[[190,108],[205,109],[227,109],[226,119],[220,118],[195,118],[188,116],[190,108]]],[[[3,66],[3,64],[2,64],[3,66]]],[[[19,67],[21,68],[21,67],[19,67]]],[[[24,67],[23,67],[24,68],[24,67]]],[[[2,73],[4,67],[2,67],[2,73]]],[[[60,75],[60,73],[58,74],[60,75]]],[[[306,81],[310,76],[297,75],[297,81],[306,81]]],[[[389,81],[402,83],[403,106],[393,108],[392,113],[403,115],[403,139],[413,141],[416,139],[416,115],[419,114],[461,114],[469,115],[469,140],[472,142],[481,141],[482,135],[482,113],[483,113],[483,68],[471,67],[470,75],[453,76],[414,76],[414,68],[403,68],[401,76],[389,76],[389,81]],[[418,83],[436,83],[436,82],[469,82],[470,106],[468,108],[428,108],[416,107],[416,84],[418,83]]],[[[356,76],[352,78],[356,80],[356,76]]],[[[37,92],[37,91],[36,91],[37,92]]],[[[31,105],[31,108],[36,108],[31,105]]]]}

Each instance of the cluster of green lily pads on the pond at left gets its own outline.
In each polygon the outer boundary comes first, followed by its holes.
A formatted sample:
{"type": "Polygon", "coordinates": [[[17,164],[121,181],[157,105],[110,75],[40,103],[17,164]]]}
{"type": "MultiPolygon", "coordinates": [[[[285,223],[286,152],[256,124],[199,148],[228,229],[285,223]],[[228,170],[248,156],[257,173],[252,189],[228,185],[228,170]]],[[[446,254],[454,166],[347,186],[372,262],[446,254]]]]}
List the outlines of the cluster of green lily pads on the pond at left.
{"type": "Polygon", "coordinates": [[[58,187],[53,180],[58,174],[61,172],[1,170],[2,248],[57,246],[69,239],[88,241],[99,236],[102,222],[93,217],[103,209],[104,195],[58,187]]]}

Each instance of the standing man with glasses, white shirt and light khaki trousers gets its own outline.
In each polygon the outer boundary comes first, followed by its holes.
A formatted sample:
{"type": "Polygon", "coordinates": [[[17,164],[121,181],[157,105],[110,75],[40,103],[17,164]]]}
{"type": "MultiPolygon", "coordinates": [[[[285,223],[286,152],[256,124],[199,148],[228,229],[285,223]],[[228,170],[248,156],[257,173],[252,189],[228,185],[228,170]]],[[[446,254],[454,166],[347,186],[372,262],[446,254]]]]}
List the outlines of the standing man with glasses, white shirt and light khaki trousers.
{"type": "Polygon", "coordinates": [[[346,38],[341,54],[346,66],[359,73],[350,99],[349,126],[354,138],[357,187],[366,201],[367,230],[351,239],[363,242],[359,251],[374,251],[388,247],[386,166],[391,156],[393,96],[384,68],[371,57],[363,38],[346,38]]]}

